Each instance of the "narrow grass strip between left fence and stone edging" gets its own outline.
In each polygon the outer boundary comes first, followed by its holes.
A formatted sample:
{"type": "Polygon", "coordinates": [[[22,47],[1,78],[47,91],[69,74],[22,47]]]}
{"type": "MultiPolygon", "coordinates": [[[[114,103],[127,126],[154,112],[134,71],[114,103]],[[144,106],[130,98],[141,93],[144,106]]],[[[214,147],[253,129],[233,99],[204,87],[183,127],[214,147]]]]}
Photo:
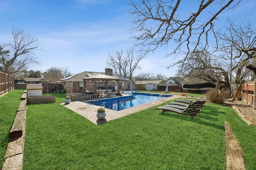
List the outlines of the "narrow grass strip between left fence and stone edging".
{"type": "Polygon", "coordinates": [[[23,92],[24,89],[15,89],[0,98],[0,167],[2,167],[4,161],[9,133],[20,106],[20,98],[23,92]]]}

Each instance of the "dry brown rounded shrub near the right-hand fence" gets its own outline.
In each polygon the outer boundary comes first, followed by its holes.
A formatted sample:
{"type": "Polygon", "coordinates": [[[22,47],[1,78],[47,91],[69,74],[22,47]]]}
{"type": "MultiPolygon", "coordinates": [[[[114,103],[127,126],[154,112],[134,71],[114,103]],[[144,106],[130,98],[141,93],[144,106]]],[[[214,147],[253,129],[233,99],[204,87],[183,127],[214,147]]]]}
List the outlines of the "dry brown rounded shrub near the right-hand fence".
{"type": "Polygon", "coordinates": [[[217,88],[214,88],[206,92],[204,97],[206,98],[206,102],[223,104],[226,99],[230,98],[230,95],[231,91],[229,89],[218,90],[217,88]]]}

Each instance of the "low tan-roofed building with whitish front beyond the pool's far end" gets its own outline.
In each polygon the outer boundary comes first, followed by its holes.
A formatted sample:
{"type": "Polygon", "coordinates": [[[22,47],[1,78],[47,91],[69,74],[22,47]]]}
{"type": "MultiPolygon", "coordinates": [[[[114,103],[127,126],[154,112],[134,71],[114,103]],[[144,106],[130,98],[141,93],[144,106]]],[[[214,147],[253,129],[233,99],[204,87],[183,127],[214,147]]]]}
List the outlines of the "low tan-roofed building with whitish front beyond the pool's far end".
{"type": "Polygon", "coordinates": [[[166,82],[164,80],[145,80],[145,81],[137,81],[135,83],[136,90],[152,90],[152,91],[161,91],[166,89],[166,82]],[[145,89],[143,87],[143,84],[145,84],[145,89]]]}

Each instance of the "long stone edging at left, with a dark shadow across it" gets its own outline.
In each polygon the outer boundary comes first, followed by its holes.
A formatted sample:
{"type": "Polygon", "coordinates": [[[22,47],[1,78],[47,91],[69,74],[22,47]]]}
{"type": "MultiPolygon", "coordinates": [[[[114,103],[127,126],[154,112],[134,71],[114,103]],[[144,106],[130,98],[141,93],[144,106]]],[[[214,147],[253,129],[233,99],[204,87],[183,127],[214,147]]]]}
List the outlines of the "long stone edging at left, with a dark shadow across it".
{"type": "Polygon", "coordinates": [[[24,96],[26,96],[26,90],[22,94],[22,101],[9,133],[9,142],[4,155],[2,170],[22,170],[27,103],[24,96]]]}

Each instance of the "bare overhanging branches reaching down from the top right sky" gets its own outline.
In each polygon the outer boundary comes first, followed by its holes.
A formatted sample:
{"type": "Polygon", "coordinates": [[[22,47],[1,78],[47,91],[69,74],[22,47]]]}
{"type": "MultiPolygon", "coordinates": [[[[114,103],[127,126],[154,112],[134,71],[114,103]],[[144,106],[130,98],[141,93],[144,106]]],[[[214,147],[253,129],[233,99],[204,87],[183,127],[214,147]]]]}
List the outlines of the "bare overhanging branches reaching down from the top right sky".
{"type": "Polygon", "coordinates": [[[167,68],[184,62],[191,52],[208,51],[209,38],[218,45],[214,22],[225,10],[233,10],[240,0],[198,0],[197,2],[198,8],[190,9],[190,14],[180,16],[182,3],[187,2],[132,1],[131,14],[134,15],[134,21],[130,31],[134,33],[136,45],[147,53],[163,45],[168,46],[170,42],[176,44],[167,56],[174,55],[175,58],[184,53],[185,57],[167,68]],[[137,2],[140,4],[136,4],[137,2]],[[182,47],[187,51],[184,52],[182,47]]]}

